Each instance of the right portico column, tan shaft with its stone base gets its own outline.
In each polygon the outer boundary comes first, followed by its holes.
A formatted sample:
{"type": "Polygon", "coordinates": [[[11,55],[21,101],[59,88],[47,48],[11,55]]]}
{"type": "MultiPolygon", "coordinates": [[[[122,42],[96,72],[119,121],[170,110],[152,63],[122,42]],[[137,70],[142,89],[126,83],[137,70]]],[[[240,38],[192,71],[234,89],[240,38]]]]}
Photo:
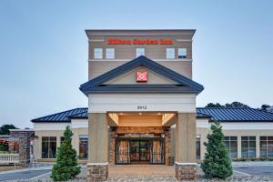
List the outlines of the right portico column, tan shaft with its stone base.
{"type": "Polygon", "coordinates": [[[178,113],[176,122],[177,180],[197,178],[196,114],[178,113]]]}

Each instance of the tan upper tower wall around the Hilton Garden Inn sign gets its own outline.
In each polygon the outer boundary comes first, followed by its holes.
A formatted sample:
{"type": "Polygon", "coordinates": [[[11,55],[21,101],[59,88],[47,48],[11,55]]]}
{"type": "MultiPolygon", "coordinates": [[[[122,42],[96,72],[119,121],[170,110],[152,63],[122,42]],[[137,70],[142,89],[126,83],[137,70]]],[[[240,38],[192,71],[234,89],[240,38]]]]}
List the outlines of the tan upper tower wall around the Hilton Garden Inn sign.
{"type": "Polygon", "coordinates": [[[192,77],[192,36],[194,30],[91,30],[87,31],[88,79],[100,76],[136,58],[136,48],[145,48],[145,56],[167,66],[179,74],[192,77]],[[172,45],[108,45],[109,38],[118,39],[171,39],[172,45]],[[94,59],[94,48],[103,49],[103,58],[94,59]],[[106,48],[115,48],[115,58],[106,59],[106,48]],[[175,48],[175,59],[167,59],[166,49],[175,48]],[[178,58],[178,48],[187,48],[187,59],[178,58]]]}

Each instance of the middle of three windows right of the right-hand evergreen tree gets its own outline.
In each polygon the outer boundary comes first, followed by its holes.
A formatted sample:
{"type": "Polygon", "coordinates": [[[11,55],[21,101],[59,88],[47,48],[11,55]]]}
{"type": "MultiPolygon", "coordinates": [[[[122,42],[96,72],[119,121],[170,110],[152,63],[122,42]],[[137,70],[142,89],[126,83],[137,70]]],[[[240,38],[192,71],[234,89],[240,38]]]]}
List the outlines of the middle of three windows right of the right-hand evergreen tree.
{"type": "Polygon", "coordinates": [[[241,137],[242,157],[256,157],[256,136],[241,137]]]}

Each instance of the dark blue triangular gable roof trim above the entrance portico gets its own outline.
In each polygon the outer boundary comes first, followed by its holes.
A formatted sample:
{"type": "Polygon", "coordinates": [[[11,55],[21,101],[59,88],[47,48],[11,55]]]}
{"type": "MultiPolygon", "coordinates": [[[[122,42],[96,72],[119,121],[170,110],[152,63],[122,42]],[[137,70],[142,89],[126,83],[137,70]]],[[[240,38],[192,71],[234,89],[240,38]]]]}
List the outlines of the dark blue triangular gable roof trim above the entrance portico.
{"type": "Polygon", "coordinates": [[[162,66],[157,62],[148,59],[146,56],[139,56],[122,66],[106,72],[101,76],[87,81],[79,88],[86,96],[90,93],[195,93],[199,94],[204,87],[197,82],[182,76],[177,72],[162,66]],[[108,80],[121,76],[126,72],[139,66],[145,66],[161,76],[165,76],[170,80],[177,82],[177,85],[104,85],[108,80]]]}

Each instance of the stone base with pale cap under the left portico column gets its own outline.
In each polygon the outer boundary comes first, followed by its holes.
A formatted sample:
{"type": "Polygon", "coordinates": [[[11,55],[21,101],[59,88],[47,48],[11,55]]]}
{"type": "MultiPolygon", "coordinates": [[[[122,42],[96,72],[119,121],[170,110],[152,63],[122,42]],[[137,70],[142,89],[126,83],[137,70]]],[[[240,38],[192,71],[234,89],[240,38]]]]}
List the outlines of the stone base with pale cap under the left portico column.
{"type": "Polygon", "coordinates": [[[87,181],[106,181],[108,178],[108,163],[88,163],[87,181]]]}

